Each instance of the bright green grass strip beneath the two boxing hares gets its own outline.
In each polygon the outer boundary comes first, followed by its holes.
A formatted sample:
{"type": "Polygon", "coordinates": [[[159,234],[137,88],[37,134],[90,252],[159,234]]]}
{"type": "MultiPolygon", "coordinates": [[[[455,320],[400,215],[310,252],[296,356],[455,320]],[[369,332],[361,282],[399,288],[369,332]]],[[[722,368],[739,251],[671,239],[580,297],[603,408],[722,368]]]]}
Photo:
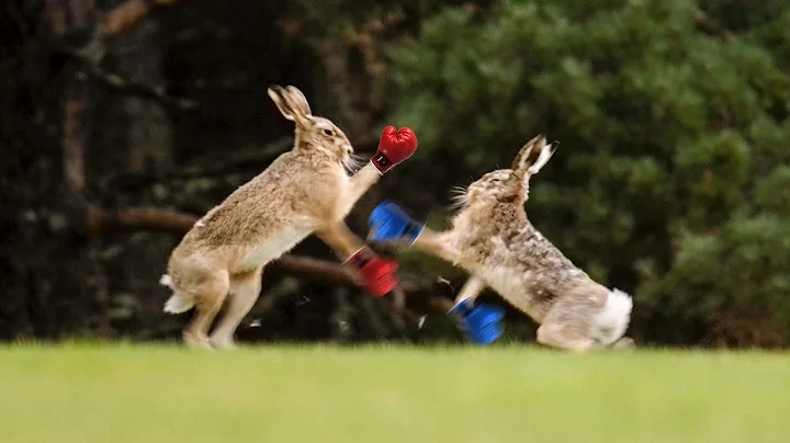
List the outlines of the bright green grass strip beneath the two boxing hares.
{"type": "Polygon", "coordinates": [[[790,441],[790,354],[0,348],[0,441],[790,441]]]}

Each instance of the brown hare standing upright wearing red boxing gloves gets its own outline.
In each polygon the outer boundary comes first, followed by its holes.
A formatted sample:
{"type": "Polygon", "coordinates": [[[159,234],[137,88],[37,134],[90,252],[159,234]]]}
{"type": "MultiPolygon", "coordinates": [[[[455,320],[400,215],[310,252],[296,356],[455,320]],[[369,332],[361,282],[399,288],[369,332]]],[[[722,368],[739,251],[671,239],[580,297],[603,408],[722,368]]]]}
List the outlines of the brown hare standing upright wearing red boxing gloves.
{"type": "Polygon", "coordinates": [[[258,299],[263,266],[314,232],[358,270],[372,296],[397,285],[397,263],[377,257],[343,219],[368,189],[414,154],[415,134],[387,126],[371,161],[349,177],[353,148],[342,130],[314,116],[298,89],[272,87],[268,93],[296,125],[293,149],[196,222],[161,279],[173,291],[166,313],[196,310],[183,331],[188,345],[233,348],[236,328],[258,299]],[[208,337],[226,297],[224,317],[208,337]]]}

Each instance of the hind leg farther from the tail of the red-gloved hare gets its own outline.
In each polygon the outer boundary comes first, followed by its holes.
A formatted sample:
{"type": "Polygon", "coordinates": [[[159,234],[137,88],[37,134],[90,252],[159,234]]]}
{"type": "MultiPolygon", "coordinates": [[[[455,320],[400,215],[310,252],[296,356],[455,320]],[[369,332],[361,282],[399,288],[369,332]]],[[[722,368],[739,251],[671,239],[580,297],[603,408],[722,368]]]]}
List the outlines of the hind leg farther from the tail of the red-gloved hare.
{"type": "Polygon", "coordinates": [[[230,276],[228,305],[216,329],[211,334],[211,343],[217,349],[234,349],[234,333],[245,316],[252,309],[261,288],[263,268],[230,276]]]}

